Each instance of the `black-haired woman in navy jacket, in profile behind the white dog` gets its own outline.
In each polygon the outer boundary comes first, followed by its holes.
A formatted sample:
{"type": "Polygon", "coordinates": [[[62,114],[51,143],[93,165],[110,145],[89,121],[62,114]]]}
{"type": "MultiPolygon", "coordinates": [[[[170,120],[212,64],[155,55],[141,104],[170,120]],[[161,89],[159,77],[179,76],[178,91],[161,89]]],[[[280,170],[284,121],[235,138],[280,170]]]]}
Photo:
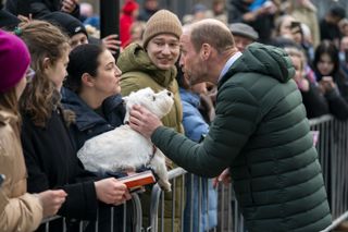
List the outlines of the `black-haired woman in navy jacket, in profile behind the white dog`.
{"type": "Polygon", "coordinates": [[[102,46],[80,45],[69,57],[62,102],[76,114],[71,134],[79,149],[87,139],[123,124],[122,72],[102,46]]]}

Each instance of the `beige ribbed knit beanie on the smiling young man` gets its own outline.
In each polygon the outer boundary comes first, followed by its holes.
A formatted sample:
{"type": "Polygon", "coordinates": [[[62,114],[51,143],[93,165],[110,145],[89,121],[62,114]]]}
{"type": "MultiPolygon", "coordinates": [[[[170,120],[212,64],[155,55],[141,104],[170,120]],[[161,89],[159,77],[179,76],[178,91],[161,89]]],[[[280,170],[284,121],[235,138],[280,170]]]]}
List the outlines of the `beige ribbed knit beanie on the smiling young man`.
{"type": "Polygon", "coordinates": [[[182,23],[178,17],[167,10],[156,12],[147,22],[142,36],[144,48],[147,47],[151,38],[159,34],[173,34],[177,38],[183,34],[182,23]]]}

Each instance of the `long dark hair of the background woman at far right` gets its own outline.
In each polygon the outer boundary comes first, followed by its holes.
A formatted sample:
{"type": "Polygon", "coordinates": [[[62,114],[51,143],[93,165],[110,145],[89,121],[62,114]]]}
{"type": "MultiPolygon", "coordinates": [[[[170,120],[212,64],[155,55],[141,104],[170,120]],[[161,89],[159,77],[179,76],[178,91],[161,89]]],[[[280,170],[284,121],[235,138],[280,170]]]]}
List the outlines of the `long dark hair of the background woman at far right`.
{"type": "Polygon", "coordinates": [[[320,62],[322,54],[328,54],[332,62],[334,63],[334,70],[330,75],[335,76],[339,71],[339,57],[338,57],[338,49],[334,45],[334,42],[330,40],[323,40],[315,49],[314,60],[313,60],[313,69],[320,80],[322,74],[319,72],[316,65],[320,62]]]}

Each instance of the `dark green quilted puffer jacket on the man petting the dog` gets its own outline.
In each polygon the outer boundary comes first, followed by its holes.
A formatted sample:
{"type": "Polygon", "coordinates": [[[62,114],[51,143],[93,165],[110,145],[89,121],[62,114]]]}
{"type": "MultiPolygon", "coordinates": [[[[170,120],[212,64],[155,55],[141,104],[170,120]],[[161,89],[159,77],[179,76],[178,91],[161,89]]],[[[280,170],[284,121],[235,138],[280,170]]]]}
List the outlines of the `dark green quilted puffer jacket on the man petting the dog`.
{"type": "Polygon", "coordinates": [[[201,144],[161,126],[152,142],[189,172],[229,167],[248,231],[318,232],[331,223],[318,154],[294,69],[253,44],[219,83],[216,118],[201,144]]]}

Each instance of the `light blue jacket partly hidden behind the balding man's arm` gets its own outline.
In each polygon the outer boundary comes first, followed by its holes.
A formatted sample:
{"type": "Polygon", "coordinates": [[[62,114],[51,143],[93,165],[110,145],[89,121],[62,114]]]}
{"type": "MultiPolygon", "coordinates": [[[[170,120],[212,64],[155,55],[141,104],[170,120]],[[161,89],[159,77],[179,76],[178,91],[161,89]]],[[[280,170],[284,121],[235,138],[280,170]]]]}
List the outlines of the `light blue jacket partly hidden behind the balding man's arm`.
{"type": "MultiPolygon", "coordinates": [[[[183,125],[185,130],[185,135],[192,141],[199,142],[202,135],[207,134],[209,131],[208,124],[204,122],[203,117],[198,110],[199,106],[199,95],[179,89],[182,105],[183,105],[183,125]]],[[[201,217],[198,213],[198,200],[199,197],[199,178],[190,174],[186,178],[186,206],[184,210],[184,231],[190,231],[190,223],[192,223],[194,231],[207,231],[216,227],[217,224],[217,194],[213,188],[212,181],[209,179],[202,179],[202,195],[201,195],[201,217]],[[208,186],[207,186],[208,185],[208,186]],[[208,190],[208,191],[207,191],[208,190]],[[194,193],[194,195],[191,195],[194,193]],[[192,197],[191,196],[196,196],[192,197]],[[207,198],[209,196],[209,199],[207,198]],[[207,204],[208,213],[207,213],[207,204]],[[194,208],[191,210],[191,207],[194,208]],[[192,211],[192,216],[190,215],[192,211]],[[208,222],[207,222],[208,218],[208,222]],[[199,221],[201,219],[201,221],[199,221]],[[191,222],[192,220],[192,222],[191,222]],[[198,230],[198,223],[200,227],[198,230]]]]}

